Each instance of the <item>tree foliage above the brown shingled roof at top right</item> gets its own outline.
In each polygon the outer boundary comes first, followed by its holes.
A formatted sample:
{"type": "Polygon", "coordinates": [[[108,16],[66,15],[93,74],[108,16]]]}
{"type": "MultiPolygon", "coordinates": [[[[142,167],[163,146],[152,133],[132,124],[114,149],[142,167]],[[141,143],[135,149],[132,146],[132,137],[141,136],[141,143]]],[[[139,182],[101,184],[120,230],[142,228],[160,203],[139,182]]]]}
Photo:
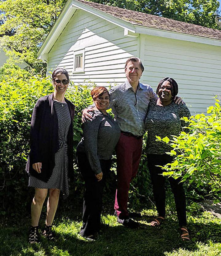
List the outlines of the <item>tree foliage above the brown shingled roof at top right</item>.
{"type": "Polygon", "coordinates": [[[221,29],[217,0],[90,0],[165,18],[221,29]]]}

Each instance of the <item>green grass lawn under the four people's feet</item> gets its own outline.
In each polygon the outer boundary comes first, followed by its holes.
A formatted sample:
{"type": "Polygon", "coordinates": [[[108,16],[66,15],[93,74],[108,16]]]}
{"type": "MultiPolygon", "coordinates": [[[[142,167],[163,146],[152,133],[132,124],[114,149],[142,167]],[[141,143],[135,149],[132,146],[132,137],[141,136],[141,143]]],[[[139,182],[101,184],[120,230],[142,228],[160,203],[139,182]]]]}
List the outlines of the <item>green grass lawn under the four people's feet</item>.
{"type": "MultiPolygon", "coordinates": [[[[171,205],[171,204],[170,204],[171,205]]],[[[106,205],[105,205],[106,206],[106,205]]],[[[54,226],[57,240],[49,242],[41,238],[37,245],[27,242],[29,217],[1,224],[1,256],[220,256],[221,219],[202,212],[195,203],[188,206],[188,227],[191,242],[182,242],[174,205],[167,205],[167,218],[160,228],[150,226],[155,209],[141,209],[137,230],[128,229],[117,223],[110,206],[102,216],[102,230],[95,242],[89,242],[78,233],[81,227],[81,206],[64,212],[58,209],[54,226]]],[[[40,226],[44,221],[41,217],[40,226]]]]}

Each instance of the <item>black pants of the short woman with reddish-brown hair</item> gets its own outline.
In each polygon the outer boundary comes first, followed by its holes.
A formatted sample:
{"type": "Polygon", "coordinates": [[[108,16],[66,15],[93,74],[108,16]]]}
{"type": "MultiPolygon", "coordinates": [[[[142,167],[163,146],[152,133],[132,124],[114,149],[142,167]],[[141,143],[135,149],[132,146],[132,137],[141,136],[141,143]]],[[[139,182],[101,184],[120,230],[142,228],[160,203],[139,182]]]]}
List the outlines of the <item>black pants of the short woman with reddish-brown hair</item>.
{"type": "Polygon", "coordinates": [[[110,160],[100,160],[103,178],[98,181],[92,171],[87,156],[77,153],[77,162],[85,181],[85,194],[83,198],[83,226],[80,234],[84,237],[95,235],[100,230],[102,211],[103,188],[108,171],[111,168],[110,160]]]}

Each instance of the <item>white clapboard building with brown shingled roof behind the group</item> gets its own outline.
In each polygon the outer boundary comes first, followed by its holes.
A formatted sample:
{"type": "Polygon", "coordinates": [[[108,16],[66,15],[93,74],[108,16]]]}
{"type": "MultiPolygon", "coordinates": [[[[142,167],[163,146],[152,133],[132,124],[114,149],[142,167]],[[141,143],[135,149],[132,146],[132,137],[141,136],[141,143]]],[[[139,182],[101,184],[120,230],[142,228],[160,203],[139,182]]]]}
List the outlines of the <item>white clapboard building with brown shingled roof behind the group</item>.
{"type": "Polygon", "coordinates": [[[69,0],[42,44],[47,71],[64,67],[74,83],[125,81],[124,63],[142,59],[141,82],[155,90],[165,76],[176,79],[192,113],[205,112],[221,95],[221,31],[168,18],[69,0]]]}

